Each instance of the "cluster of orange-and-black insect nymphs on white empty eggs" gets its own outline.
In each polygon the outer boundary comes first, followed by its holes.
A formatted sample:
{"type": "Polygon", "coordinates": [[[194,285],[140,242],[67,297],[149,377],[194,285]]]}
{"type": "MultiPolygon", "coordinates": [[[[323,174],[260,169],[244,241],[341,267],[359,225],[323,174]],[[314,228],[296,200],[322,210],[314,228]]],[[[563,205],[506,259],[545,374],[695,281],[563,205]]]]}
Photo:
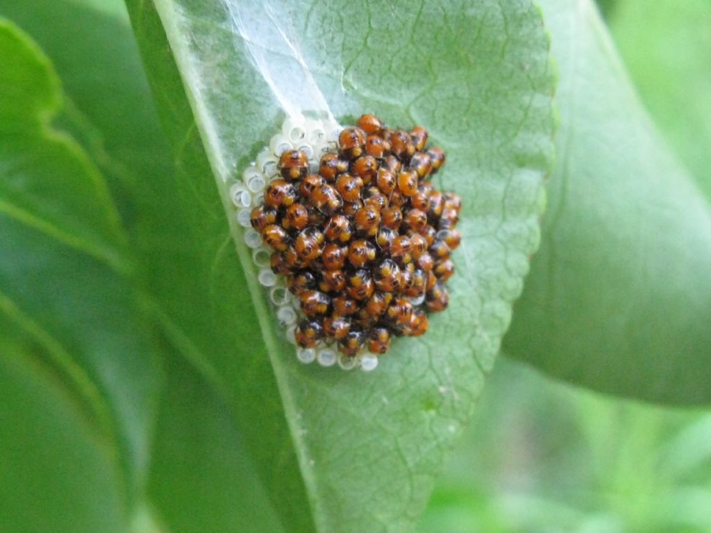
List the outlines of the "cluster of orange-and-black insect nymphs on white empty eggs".
{"type": "Polygon", "coordinates": [[[461,200],[431,177],[427,130],[288,118],[230,188],[237,222],[301,362],[373,370],[449,303],[461,200]]]}

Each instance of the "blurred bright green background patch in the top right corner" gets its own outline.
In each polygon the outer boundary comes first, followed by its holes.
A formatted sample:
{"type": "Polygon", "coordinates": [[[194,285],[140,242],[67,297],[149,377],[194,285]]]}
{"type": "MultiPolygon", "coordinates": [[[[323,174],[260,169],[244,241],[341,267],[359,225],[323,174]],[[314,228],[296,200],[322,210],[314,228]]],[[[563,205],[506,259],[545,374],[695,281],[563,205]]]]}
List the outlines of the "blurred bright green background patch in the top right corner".
{"type": "Polygon", "coordinates": [[[624,0],[610,24],[642,102],[711,198],[711,4],[624,0]]]}

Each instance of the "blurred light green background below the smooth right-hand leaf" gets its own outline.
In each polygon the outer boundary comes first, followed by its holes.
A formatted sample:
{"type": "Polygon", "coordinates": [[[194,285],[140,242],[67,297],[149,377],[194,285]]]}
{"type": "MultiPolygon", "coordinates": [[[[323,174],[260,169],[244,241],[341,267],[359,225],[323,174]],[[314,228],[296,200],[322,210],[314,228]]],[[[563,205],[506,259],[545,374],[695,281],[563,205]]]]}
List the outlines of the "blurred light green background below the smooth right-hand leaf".
{"type": "Polygon", "coordinates": [[[711,414],[552,382],[502,359],[419,531],[709,532],[711,414]]]}

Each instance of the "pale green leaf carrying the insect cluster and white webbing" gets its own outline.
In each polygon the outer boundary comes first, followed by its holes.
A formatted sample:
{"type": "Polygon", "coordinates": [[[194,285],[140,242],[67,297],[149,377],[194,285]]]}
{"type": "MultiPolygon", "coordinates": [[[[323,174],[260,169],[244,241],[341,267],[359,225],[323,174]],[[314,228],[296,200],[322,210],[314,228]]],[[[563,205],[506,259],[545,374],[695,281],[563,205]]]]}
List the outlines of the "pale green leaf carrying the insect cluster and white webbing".
{"type": "MultiPolygon", "coordinates": [[[[200,3],[159,3],[156,7],[163,17],[169,44],[181,69],[194,111],[177,109],[176,102],[183,98],[183,88],[174,75],[165,75],[164,65],[170,65],[171,58],[161,54],[166,45],[161,40],[160,31],[155,30],[156,14],[146,5],[149,4],[141,4],[142,7],[129,4],[129,7],[134,21],[137,21],[139,44],[144,49],[148,65],[151,65],[149,77],[154,82],[159,102],[165,102],[163,107],[169,113],[167,120],[172,124],[170,134],[173,141],[181,143],[181,146],[195,144],[198,146],[196,151],[201,149],[200,139],[191,136],[191,117],[195,114],[206,154],[224,197],[224,181],[232,177],[234,168],[240,168],[255,156],[260,143],[268,139],[280,119],[278,106],[270,93],[273,80],[270,87],[267,80],[262,79],[265,73],[254,70],[245,43],[237,42],[235,47],[235,35],[217,31],[229,26],[235,17],[227,6],[217,4],[214,11],[204,12],[201,11],[204,6],[200,3]],[[191,35],[200,45],[187,45],[187,35],[191,35]],[[235,51],[232,53],[230,50],[235,51]],[[151,71],[161,72],[161,75],[151,76],[151,71]],[[212,82],[205,84],[203,80],[212,82]],[[175,124],[185,126],[180,128],[175,124]],[[235,139],[240,139],[239,145],[235,144],[235,139]]],[[[265,28],[269,28],[270,19],[266,14],[260,14],[257,6],[244,9],[245,13],[240,16],[250,21],[245,31],[268,31],[265,28]]],[[[329,11],[331,9],[332,6],[329,11]]],[[[373,6],[373,10],[378,8],[373,6]]],[[[525,256],[535,247],[540,183],[546,163],[546,145],[551,134],[550,102],[546,97],[551,90],[547,74],[547,45],[540,26],[535,23],[538,14],[530,9],[513,9],[512,6],[511,16],[523,30],[515,39],[506,37],[508,48],[501,49],[502,55],[488,55],[483,50],[496,50],[503,45],[501,24],[504,21],[498,14],[498,8],[482,6],[481,10],[465,16],[459,26],[462,30],[451,36],[444,32],[444,27],[429,28],[441,43],[428,46],[424,57],[429,58],[429,63],[441,66],[439,80],[434,80],[423,92],[419,75],[412,78],[414,72],[407,68],[404,58],[402,67],[393,68],[387,76],[373,68],[372,61],[368,59],[378,57],[379,50],[397,48],[399,34],[385,31],[394,19],[380,18],[383,28],[373,33],[372,49],[345,48],[342,55],[333,55],[327,53],[332,47],[319,43],[319,38],[328,35],[319,31],[319,24],[329,28],[334,26],[328,19],[329,11],[321,12],[314,8],[309,14],[311,23],[308,26],[306,19],[299,18],[298,13],[291,14],[289,26],[296,28],[296,34],[309,33],[308,40],[299,42],[307,65],[316,75],[319,73],[316,65],[333,62],[350,65],[346,85],[352,88],[345,94],[341,94],[341,89],[336,90],[334,80],[328,80],[328,76],[324,75],[321,82],[326,87],[332,87],[331,92],[326,93],[326,99],[338,117],[354,116],[368,109],[387,116],[395,123],[422,122],[429,125],[435,140],[448,149],[450,160],[454,163],[449,173],[445,174],[445,177],[449,176],[447,187],[454,186],[461,195],[471,198],[472,203],[476,201],[476,208],[473,205],[462,222],[465,235],[466,227],[472,228],[472,238],[462,247],[464,269],[467,264],[472,265],[469,276],[460,279],[462,289],[454,289],[454,294],[459,294],[459,297],[453,298],[449,316],[440,319],[447,321],[447,326],[438,325],[439,321],[435,319],[432,333],[423,341],[405,340],[399,343],[388,357],[389,364],[384,364],[375,375],[353,376],[338,372],[334,375],[332,370],[301,367],[294,360],[293,348],[276,334],[274,319],[267,310],[264,295],[255,290],[257,284],[240,231],[232,227],[237,252],[246,266],[246,280],[225,285],[225,290],[213,287],[212,294],[218,295],[219,301],[213,300],[212,307],[219,305],[220,311],[225,313],[232,301],[235,301],[233,305],[247,306],[238,312],[223,314],[223,317],[240,316],[240,324],[245,329],[225,330],[225,318],[215,317],[218,328],[213,328],[210,335],[195,331],[188,333],[188,336],[196,345],[206,343],[198,355],[201,365],[215,367],[220,375],[230,377],[222,387],[234,398],[238,423],[247,446],[251,445],[264,484],[279,502],[277,508],[283,513],[286,523],[292,524],[294,529],[308,527],[303,522],[306,514],[302,511],[307,505],[306,499],[303,496],[299,498],[303,475],[320,529],[378,530],[387,523],[395,529],[405,530],[412,522],[412,516],[416,516],[417,510],[424,504],[451,439],[459,434],[462,423],[471,413],[481,387],[481,367],[491,365],[498,335],[503,333],[508,323],[507,301],[517,295],[520,276],[527,268],[525,256]],[[485,18],[489,18],[486,25],[483,23],[485,18]],[[467,43],[466,36],[470,33],[464,28],[477,25],[481,26],[479,50],[468,52],[467,47],[471,45],[467,43]],[[539,50],[538,53],[530,52],[532,42],[536,43],[538,48],[534,50],[539,50]],[[528,72],[521,68],[518,58],[524,48],[528,50],[528,72]],[[460,52],[449,57],[453,49],[460,52]],[[475,52],[480,60],[474,72],[468,72],[471,69],[469,53],[475,52]],[[486,72],[507,72],[507,91],[490,85],[494,76],[486,72]],[[397,92],[393,85],[395,79],[399,81],[397,92]],[[358,90],[356,87],[368,89],[358,90]],[[386,87],[390,87],[389,98],[392,102],[410,104],[386,104],[370,96],[383,94],[386,87]],[[451,94],[451,104],[447,105],[447,100],[443,104],[442,100],[433,98],[443,91],[451,94]],[[479,97],[488,94],[496,97],[479,97]],[[466,122],[451,120],[454,114],[459,113],[455,102],[460,101],[471,102],[466,122]],[[518,101],[529,102],[528,110],[514,111],[510,103],[518,101]],[[495,118],[494,114],[498,117],[495,118]],[[497,156],[481,157],[481,154],[493,153],[495,145],[502,142],[509,146],[508,150],[497,148],[497,156]],[[476,147],[474,151],[472,146],[476,147]],[[471,180],[469,176],[472,173],[479,179],[471,180]],[[506,223],[501,224],[504,207],[506,223]],[[479,236],[475,238],[474,228],[483,227],[484,221],[492,230],[499,226],[498,231],[482,236],[480,229],[479,236]],[[512,271],[503,268],[505,252],[512,271]],[[474,256],[478,262],[467,261],[467,257],[474,256]],[[251,287],[252,301],[245,298],[247,293],[244,289],[240,294],[228,289],[228,286],[251,287]],[[470,287],[476,291],[475,305],[472,305],[470,287]],[[257,313],[255,318],[249,318],[254,313],[250,313],[252,308],[257,313]],[[480,327],[472,332],[471,323],[479,323],[480,327]],[[247,341],[252,336],[250,331],[260,329],[264,348],[260,343],[247,341]],[[215,338],[225,335],[234,335],[231,341],[234,348],[215,350],[215,338]],[[459,342],[451,343],[447,338],[456,338],[459,342]],[[240,345],[245,342],[249,343],[248,350],[240,350],[240,345]],[[479,364],[472,357],[472,350],[479,364]],[[446,360],[442,358],[443,352],[447,352],[446,360]],[[237,363],[240,360],[242,362],[237,363]],[[265,396],[275,398],[278,394],[269,388],[271,379],[264,375],[267,360],[271,360],[279,383],[284,414],[272,410],[282,409],[281,405],[272,402],[265,404],[263,400],[265,396]],[[250,369],[249,372],[245,372],[247,369],[250,369]],[[395,389],[397,394],[392,394],[395,389]],[[274,454],[282,455],[279,450],[284,446],[291,449],[290,443],[283,437],[286,426],[279,425],[284,417],[294,436],[301,475],[293,460],[291,463],[274,463],[274,454]],[[274,421],[275,425],[271,429],[255,431],[257,424],[265,420],[274,421]],[[439,429],[432,431],[433,426],[439,429]],[[377,438],[374,438],[376,435],[377,438]],[[269,446],[264,445],[265,438],[271,439],[267,441],[271,443],[269,446]],[[295,505],[295,508],[290,508],[289,504],[295,505]]],[[[270,16],[279,19],[284,15],[277,12],[270,16]]],[[[358,21],[355,13],[346,12],[343,16],[358,21]]],[[[418,18],[413,13],[410,20],[400,17],[397,23],[402,31],[415,35],[425,31],[422,26],[424,21],[431,21],[434,16],[422,14],[418,18]]],[[[365,19],[360,21],[367,22],[365,19]]],[[[353,35],[365,31],[365,27],[357,24],[349,28],[353,35]]],[[[417,42],[412,44],[417,45],[417,42]]],[[[425,53],[424,50],[413,52],[419,55],[425,53]]],[[[278,53],[269,55],[267,60],[269,68],[277,72],[291,68],[289,62],[293,61],[289,56],[278,53]]],[[[327,68],[324,72],[330,70],[327,68]]],[[[294,84],[298,83],[298,79],[294,80],[294,84]]],[[[503,79],[499,78],[495,83],[503,83],[503,79]]],[[[289,90],[289,87],[277,87],[277,91],[289,90]]],[[[200,166],[192,166],[186,168],[183,179],[194,187],[196,183],[208,183],[208,173],[200,166]]],[[[205,189],[205,198],[214,198],[214,193],[211,190],[208,193],[205,189]]],[[[196,198],[192,200],[194,202],[196,198]]],[[[186,203],[181,210],[189,213],[199,207],[200,204],[191,206],[186,203]]],[[[214,215],[215,211],[212,213],[214,215]]],[[[198,212],[196,220],[203,219],[204,215],[204,212],[198,212]]],[[[192,226],[195,227],[195,224],[192,226]]],[[[225,255],[231,247],[228,248],[224,240],[224,222],[215,220],[213,229],[203,229],[201,233],[203,236],[196,235],[194,240],[208,242],[214,250],[203,252],[201,257],[216,258],[210,259],[217,272],[213,276],[218,279],[223,275],[230,276],[228,280],[231,281],[236,262],[230,260],[231,253],[225,255]],[[205,239],[210,235],[223,237],[213,241],[205,239]]],[[[171,301],[181,300],[172,296],[171,301]]],[[[191,304],[193,301],[194,298],[191,304]]],[[[210,303],[210,299],[207,302],[210,303]]],[[[284,456],[289,458],[289,453],[284,456]]]]}

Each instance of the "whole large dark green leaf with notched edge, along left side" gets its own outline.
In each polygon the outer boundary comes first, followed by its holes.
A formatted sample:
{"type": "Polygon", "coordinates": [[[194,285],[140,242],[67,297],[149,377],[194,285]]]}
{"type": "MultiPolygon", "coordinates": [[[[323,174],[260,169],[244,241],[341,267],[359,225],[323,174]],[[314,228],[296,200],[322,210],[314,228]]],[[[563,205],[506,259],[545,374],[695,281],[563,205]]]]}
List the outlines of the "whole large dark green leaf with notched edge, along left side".
{"type": "Polygon", "coordinates": [[[0,513],[10,520],[3,529],[16,530],[31,515],[48,530],[56,514],[66,530],[96,531],[142,490],[160,374],[106,184],[85,152],[48,124],[60,104],[55,72],[8,23],[0,25],[0,64],[0,325],[12,382],[1,390],[14,402],[3,420],[6,435],[36,446],[16,456],[18,441],[0,440],[4,463],[26,461],[4,476],[4,485],[24,490],[17,502],[3,502],[11,511],[0,513]],[[65,424],[53,419],[43,429],[48,404],[65,424]],[[18,427],[19,414],[28,427],[18,427]],[[77,446],[80,435],[86,441],[77,446]],[[76,461],[87,462],[53,465],[50,457],[71,446],[76,461]],[[47,485],[38,483],[44,461],[53,466],[47,485]],[[25,468],[32,483],[23,480],[25,468]],[[62,475],[101,479],[105,491],[77,490],[77,502],[65,508],[62,475]]]}

